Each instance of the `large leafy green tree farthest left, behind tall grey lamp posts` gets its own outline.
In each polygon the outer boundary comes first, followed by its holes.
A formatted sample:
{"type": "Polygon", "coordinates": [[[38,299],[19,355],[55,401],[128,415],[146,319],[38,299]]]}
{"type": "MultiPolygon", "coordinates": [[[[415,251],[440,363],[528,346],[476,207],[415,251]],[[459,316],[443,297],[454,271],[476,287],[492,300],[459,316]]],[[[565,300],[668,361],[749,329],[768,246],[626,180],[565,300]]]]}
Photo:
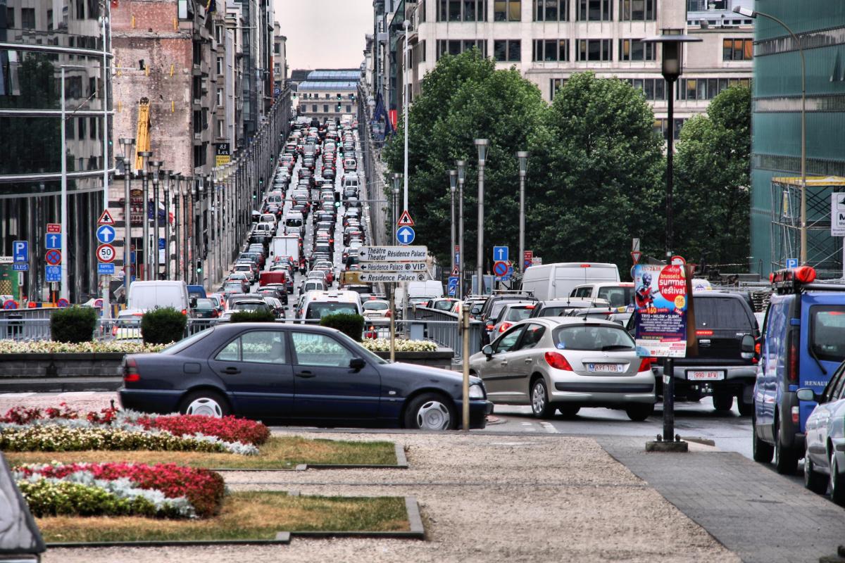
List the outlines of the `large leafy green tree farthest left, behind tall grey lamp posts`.
{"type": "MultiPolygon", "coordinates": [[[[441,263],[450,262],[450,191],[448,171],[455,160],[468,163],[464,189],[466,265],[472,267],[477,245],[477,150],[475,138],[488,138],[484,175],[484,241],[491,247],[516,246],[519,236],[519,173],[516,151],[525,150],[547,106],[537,86],[514,68],[496,70],[491,59],[472,49],[442,57],[423,78],[409,122],[408,203],[417,242],[441,263]]],[[[403,170],[402,120],[384,149],[390,172],[403,170]]],[[[390,182],[386,182],[390,189],[390,182]]],[[[400,196],[401,197],[401,196],[400,196]]],[[[455,204],[457,207],[457,204],[455,204]]],[[[490,268],[490,264],[487,264],[490,268]]]]}

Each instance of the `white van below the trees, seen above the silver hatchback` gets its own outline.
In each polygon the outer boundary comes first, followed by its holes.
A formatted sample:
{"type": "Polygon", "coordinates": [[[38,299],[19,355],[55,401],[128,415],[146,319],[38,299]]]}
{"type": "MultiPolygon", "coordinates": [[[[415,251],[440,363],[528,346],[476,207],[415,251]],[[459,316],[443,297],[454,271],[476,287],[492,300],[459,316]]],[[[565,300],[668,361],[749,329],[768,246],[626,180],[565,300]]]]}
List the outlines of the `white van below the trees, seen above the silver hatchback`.
{"type": "Polygon", "coordinates": [[[568,297],[576,285],[611,282],[619,284],[616,264],[597,262],[560,262],[527,268],[522,275],[522,290],[545,301],[568,297]]]}

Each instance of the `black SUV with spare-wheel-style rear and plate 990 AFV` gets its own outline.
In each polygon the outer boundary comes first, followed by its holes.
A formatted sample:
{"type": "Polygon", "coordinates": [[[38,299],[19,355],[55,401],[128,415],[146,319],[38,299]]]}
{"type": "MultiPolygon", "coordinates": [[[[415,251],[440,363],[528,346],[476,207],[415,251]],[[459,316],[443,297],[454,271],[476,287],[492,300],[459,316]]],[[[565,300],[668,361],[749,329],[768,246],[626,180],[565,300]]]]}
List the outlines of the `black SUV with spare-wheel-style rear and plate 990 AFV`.
{"type": "MultiPolygon", "coordinates": [[[[739,414],[754,409],[758,356],[755,344],[760,328],[750,296],[736,291],[701,291],[693,294],[698,354],[675,358],[675,397],[698,401],[711,395],[713,408],[728,411],[737,398],[739,414]]],[[[629,327],[633,330],[634,315],[629,327]]],[[[663,365],[656,366],[657,390],[662,392],[663,365]]]]}

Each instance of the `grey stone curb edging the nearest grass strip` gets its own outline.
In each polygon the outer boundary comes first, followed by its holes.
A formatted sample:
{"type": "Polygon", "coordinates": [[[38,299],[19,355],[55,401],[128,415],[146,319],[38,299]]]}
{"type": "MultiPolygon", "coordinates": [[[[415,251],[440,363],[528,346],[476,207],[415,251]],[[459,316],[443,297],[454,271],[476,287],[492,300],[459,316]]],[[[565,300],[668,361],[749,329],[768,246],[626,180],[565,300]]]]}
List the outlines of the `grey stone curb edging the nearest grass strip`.
{"type": "MultiPolygon", "coordinates": [[[[292,490],[288,493],[292,496],[299,496],[299,491],[292,490]]],[[[367,532],[367,531],[303,531],[303,532],[278,532],[275,539],[197,539],[197,540],[171,540],[171,541],[127,541],[127,542],[57,542],[46,544],[47,549],[57,548],[94,548],[94,547],[182,547],[197,545],[286,545],[291,543],[293,538],[373,538],[373,539],[425,539],[425,528],[423,517],[420,516],[417,497],[405,497],[405,510],[408,516],[410,530],[407,532],[367,532]]]]}

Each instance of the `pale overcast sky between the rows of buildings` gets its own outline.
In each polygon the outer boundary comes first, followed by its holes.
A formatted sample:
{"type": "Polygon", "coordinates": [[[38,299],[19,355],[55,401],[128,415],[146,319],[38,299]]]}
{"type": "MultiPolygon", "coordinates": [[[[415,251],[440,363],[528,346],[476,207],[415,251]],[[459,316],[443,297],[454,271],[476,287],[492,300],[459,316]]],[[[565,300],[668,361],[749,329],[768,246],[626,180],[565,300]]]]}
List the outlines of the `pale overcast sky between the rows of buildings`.
{"type": "Polygon", "coordinates": [[[373,0],[274,0],[274,8],[287,37],[287,68],[361,65],[364,35],[373,33],[373,0]]]}

